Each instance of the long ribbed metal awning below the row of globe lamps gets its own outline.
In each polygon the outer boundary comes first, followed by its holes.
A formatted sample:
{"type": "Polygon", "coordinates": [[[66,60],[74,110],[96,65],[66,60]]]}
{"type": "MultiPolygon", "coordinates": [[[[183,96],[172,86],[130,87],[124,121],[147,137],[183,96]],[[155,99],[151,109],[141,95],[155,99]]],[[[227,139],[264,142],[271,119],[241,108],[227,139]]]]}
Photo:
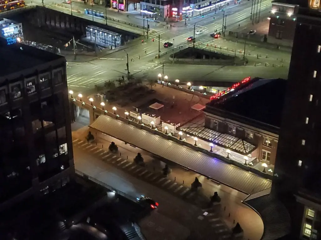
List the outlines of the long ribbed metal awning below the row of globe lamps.
{"type": "Polygon", "coordinates": [[[108,116],[99,116],[90,127],[244,193],[271,187],[270,180],[108,116]]]}

